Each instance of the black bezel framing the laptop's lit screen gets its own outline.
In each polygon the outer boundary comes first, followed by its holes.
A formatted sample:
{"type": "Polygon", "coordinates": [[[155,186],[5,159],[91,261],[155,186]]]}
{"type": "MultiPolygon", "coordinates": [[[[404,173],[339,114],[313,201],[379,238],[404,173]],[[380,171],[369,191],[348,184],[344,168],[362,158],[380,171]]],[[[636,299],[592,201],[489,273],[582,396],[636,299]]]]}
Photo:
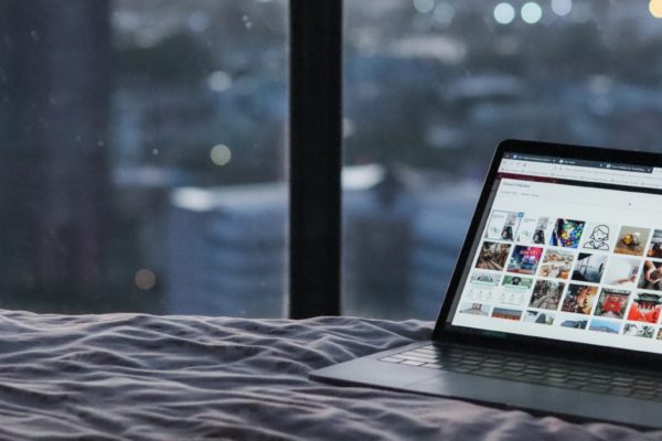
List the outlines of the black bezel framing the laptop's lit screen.
{"type": "MultiPolygon", "coordinates": [[[[662,155],[650,152],[638,152],[630,150],[606,149],[587,146],[557,144],[538,141],[514,140],[502,141],[496,148],[490,169],[488,171],[483,189],[478,200],[477,208],[467,232],[465,243],[458,256],[452,277],[447,288],[447,294],[439,312],[433,340],[441,342],[458,342],[476,345],[489,345],[490,347],[501,347],[505,349],[522,351],[527,353],[541,353],[549,355],[559,354],[560,357],[586,358],[591,362],[605,363],[610,365],[633,365],[653,369],[650,362],[662,362],[662,354],[654,354],[641,351],[629,351],[608,346],[598,346],[585,343],[568,341],[558,341],[553,338],[533,337],[527,335],[490,332],[471,327],[451,325],[448,322],[449,314],[452,311],[453,300],[460,295],[458,290],[462,281],[462,275],[467,265],[470,263],[471,248],[476,241],[476,235],[479,230],[481,219],[488,209],[490,193],[495,183],[499,165],[504,153],[523,153],[544,157],[554,157],[559,159],[576,160],[597,160],[607,162],[620,162],[632,165],[662,166],[662,155]],[[615,355],[618,355],[615,357],[615,355]]],[[[662,194],[649,189],[623,187],[628,191],[639,191],[662,194]]],[[[662,227],[662,222],[661,222],[662,227]]],[[[661,342],[662,343],[662,342],[661,342]]]]}

